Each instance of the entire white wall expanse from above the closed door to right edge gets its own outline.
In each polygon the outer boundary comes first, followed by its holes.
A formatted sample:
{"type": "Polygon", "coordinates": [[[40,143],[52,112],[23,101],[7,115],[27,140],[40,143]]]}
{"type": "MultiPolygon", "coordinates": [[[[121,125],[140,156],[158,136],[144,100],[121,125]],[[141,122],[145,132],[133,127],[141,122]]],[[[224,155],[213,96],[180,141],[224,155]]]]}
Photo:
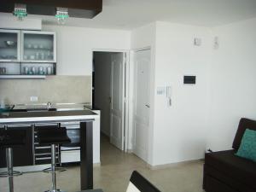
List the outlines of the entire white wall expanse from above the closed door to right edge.
{"type": "Polygon", "coordinates": [[[131,32],[132,49],[153,47],[151,166],[201,159],[207,148],[229,149],[239,119],[256,119],[255,34],[256,19],[215,28],[158,21],[131,32]],[[215,36],[219,49],[213,49],[215,36]],[[183,84],[183,75],[195,75],[196,84],[183,84]],[[171,108],[156,94],[169,85],[171,108]]]}

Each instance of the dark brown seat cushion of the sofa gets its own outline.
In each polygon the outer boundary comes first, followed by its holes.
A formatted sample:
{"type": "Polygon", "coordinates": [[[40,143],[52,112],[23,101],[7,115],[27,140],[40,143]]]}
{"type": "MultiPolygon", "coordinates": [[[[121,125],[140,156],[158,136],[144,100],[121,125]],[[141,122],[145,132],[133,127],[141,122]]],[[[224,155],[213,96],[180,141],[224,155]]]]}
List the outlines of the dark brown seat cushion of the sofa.
{"type": "Polygon", "coordinates": [[[238,157],[235,153],[235,150],[228,150],[206,154],[205,164],[256,189],[256,163],[238,157]]]}

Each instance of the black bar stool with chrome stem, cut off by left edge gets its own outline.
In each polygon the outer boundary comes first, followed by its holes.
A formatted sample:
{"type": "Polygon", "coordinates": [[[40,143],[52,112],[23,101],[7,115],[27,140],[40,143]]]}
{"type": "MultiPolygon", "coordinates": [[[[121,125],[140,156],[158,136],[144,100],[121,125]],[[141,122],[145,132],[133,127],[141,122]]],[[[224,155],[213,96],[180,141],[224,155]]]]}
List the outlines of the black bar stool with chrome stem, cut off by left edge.
{"type": "Polygon", "coordinates": [[[13,148],[20,147],[26,143],[26,131],[0,129],[0,148],[6,150],[7,172],[0,173],[0,177],[9,177],[9,192],[14,192],[14,177],[20,176],[21,172],[14,171],[13,148]]]}

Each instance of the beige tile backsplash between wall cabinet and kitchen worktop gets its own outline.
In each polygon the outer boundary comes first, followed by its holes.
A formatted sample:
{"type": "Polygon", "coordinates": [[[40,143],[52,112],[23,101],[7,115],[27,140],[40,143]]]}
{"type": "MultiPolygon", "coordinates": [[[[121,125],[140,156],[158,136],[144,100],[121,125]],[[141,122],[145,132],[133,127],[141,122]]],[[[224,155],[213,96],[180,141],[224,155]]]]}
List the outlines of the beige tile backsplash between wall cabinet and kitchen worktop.
{"type": "Polygon", "coordinates": [[[91,102],[91,76],[49,76],[46,79],[1,79],[0,101],[5,104],[91,102]]]}

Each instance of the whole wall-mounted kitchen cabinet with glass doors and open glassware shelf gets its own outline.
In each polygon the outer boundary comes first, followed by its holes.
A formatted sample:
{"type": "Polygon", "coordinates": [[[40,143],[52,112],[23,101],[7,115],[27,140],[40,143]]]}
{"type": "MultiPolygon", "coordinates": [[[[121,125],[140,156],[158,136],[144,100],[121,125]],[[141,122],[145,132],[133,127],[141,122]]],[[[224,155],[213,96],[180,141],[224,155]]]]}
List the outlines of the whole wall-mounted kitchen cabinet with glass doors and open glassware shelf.
{"type": "Polygon", "coordinates": [[[56,75],[55,32],[0,29],[0,68],[5,69],[0,79],[45,79],[56,75]],[[15,45],[8,46],[7,41],[15,45]]]}

